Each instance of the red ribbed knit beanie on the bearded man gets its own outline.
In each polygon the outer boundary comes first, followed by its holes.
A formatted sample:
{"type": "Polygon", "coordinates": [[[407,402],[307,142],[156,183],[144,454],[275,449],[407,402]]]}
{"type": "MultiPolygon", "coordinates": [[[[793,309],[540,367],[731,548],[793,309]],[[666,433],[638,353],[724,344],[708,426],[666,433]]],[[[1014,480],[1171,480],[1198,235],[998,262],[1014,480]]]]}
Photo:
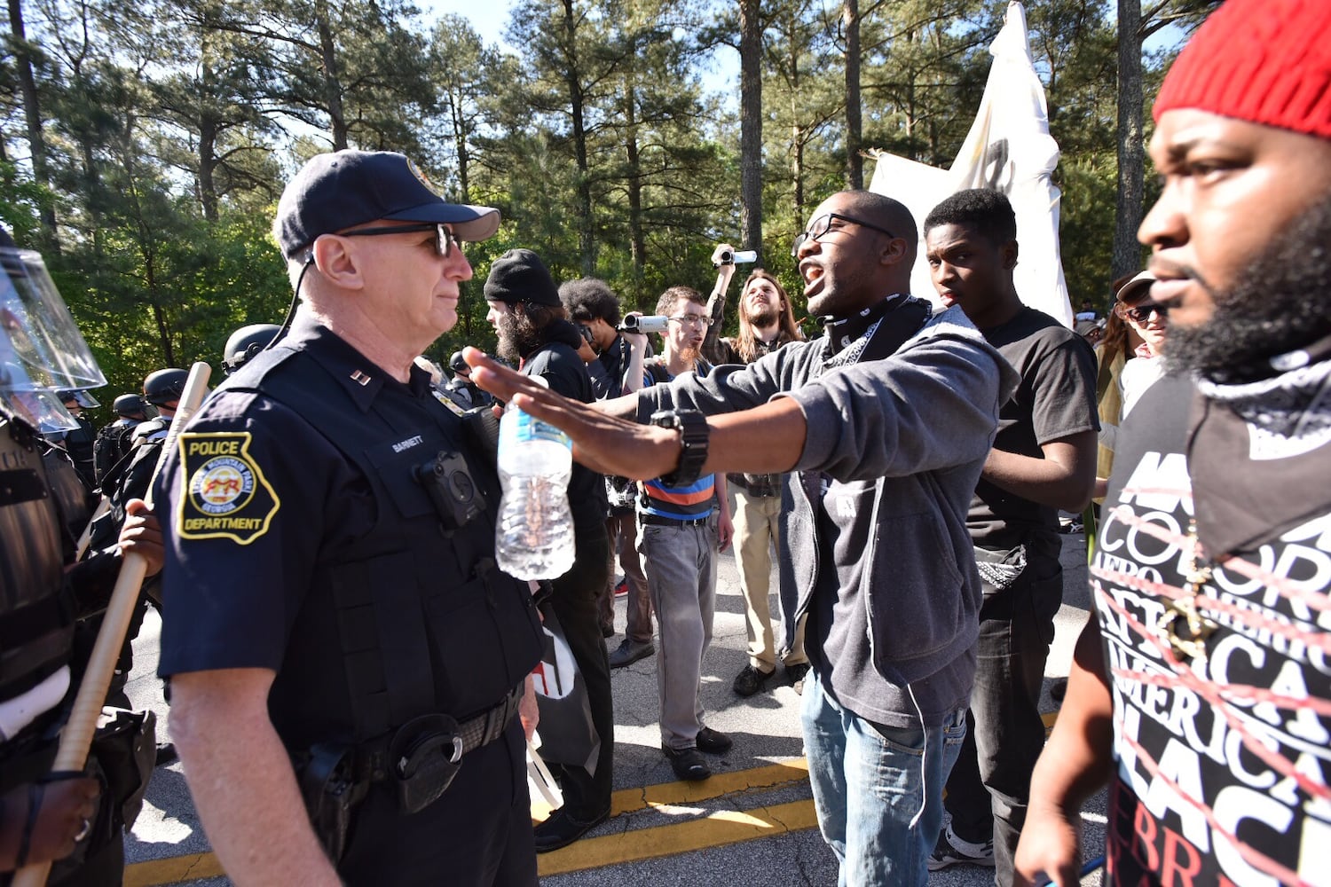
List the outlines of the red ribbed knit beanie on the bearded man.
{"type": "Polygon", "coordinates": [[[1331,0],[1229,0],[1179,53],[1153,116],[1175,108],[1331,138],[1331,0]]]}

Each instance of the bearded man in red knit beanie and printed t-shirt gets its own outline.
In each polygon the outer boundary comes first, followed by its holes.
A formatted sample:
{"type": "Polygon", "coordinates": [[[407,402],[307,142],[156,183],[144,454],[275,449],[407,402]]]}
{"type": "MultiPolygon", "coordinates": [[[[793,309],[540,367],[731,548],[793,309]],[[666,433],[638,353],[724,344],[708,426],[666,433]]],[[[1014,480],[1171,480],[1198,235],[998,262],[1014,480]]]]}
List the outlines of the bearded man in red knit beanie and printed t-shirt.
{"type": "Polygon", "coordinates": [[[1016,864],[1077,883],[1109,778],[1110,883],[1327,883],[1331,5],[1231,0],[1154,114],[1138,238],[1175,375],[1119,430],[1016,864]]]}

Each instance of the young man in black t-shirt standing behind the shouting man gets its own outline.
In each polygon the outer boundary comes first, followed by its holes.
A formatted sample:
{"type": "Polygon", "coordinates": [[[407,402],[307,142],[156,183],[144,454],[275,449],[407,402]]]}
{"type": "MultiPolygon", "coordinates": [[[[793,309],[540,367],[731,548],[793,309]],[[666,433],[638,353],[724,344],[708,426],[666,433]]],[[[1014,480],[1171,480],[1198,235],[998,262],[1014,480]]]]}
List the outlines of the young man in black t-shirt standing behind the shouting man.
{"type": "Polygon", "coordinates": [[[1006,197],[953,194],[924,230],[944,305],[960,305],[1021,375],[966,519],[985,601],[970,729],[948,779],[952,823],[929,868],[996,866],[997,883],[1010,884],[1045,739],[1040,692],[1062,601],[1058,509],[1085,508],[1095,480],[1095,360],[1081,336],[1021,303],[1013,285],[1017,222],[1006,197]]]}

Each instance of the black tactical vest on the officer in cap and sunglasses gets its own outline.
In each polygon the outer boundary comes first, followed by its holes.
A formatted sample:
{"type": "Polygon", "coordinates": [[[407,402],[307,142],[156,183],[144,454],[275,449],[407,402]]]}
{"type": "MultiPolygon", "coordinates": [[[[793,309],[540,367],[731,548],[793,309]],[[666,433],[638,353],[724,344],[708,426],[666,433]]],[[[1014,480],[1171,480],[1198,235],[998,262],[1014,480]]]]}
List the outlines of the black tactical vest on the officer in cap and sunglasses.
{"type": "MultiPolygon", "coordinates": [[[[354,739],[426,713],[461,722],[492,707],[535,668],[542,630],[527,584],[494,565],[499,485],[462,422],[430,398],[409,426],[373,407],[362,416],[322,366],[284,346],[253,363],[260,366],[248,367],[246,383],[228,388],[270,396],[319,430],[359,468],[378,513],[370,533],[326,552],[310,589],[337,610],[354,739]],[[415,435],[423,444],[395,451],[395,442],[415,435]],[[446,528],[418,480],[422,460],[439,452],[465,457],[487,503],[457,529],[446,528]]],[[[302,642],[319,640],[293,637],[289,658],[302,642]]],[[[287,692],[307,688],[284,688],[280,673],[270,710],[287,692]]]]}

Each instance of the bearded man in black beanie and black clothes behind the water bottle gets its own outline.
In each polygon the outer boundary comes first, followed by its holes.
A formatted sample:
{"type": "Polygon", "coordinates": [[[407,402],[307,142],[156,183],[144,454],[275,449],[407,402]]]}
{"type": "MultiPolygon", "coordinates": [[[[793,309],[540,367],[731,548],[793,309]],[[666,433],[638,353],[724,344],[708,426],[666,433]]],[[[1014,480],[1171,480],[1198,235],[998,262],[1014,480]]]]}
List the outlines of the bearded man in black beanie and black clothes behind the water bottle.
{"type": "MultiPolygon", "coordinates": [[[[519,362],[524,375],[540,376],[551,391],[582,403],[595,400],[587,364],[578,355],[582,334],[566,318],[559,291],[539,255],[519,249],[495,259],[484,297],[490,305],[486,319],[499,334],[499,356],[519,362]]],[[[555,586],[551,601],[587,686],[600,750],[592,767],[560,767],[564,806],[536,826],[536,852],[571,844],[610,817],[615,715],[596,605],[610,561],[603,476],[574,464],[568,504],[574,515],[574,565],[563,576],[550,577],[555,586]]]]}

